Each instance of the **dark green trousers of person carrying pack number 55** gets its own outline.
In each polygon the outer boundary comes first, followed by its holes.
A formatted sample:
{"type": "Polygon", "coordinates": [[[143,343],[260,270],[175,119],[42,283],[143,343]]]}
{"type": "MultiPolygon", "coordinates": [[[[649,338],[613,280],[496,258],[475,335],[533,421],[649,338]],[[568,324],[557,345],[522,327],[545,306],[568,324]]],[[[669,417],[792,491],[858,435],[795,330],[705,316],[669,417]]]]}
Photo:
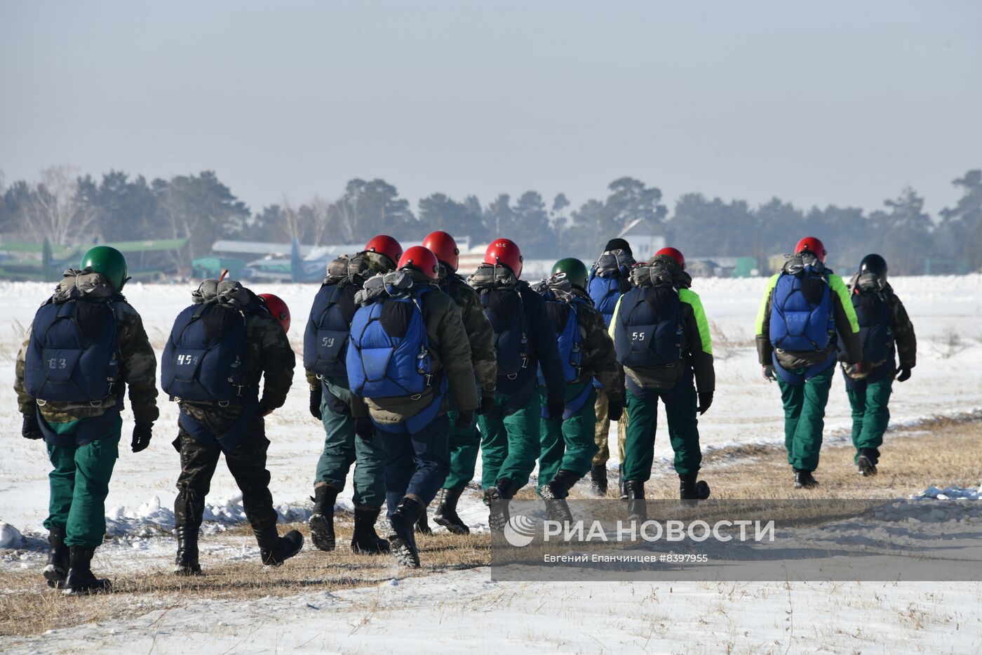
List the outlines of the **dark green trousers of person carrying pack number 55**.
{"type": "MultiPolygon", "coordinates": [[[[678,402],[665,405],[669,442],[675,450],[675,469],[680,475],[698,473],[702,463],[697,407],[695,387],[689,387],[678,402]]],[[[624,445],[622,479],[642,482],[651,479],[657,421],[658,400],[642,400],[628,389],[627,439],[624,445]]]]}

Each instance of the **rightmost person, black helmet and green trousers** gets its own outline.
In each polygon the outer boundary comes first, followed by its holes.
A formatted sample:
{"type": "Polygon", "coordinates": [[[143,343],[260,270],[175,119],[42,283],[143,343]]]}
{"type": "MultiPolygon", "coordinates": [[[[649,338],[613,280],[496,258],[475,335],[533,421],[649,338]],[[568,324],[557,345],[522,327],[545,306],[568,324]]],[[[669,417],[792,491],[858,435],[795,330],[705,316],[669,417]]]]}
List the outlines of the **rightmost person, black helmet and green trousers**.
{"type": "Polygon", "coordinates": [[[894,378],[899,382],[910,378],[917,363],[917,338],[903,303],[887,282],[887,262],[882,257],[862,258],[849,289],[859,321],[862,358],[856,364],[843,361],[843,377],[852,407],[856,467],[860,475],[870,476],[876,475],[883,434],[890,422],[888,403],[894,378]]]}

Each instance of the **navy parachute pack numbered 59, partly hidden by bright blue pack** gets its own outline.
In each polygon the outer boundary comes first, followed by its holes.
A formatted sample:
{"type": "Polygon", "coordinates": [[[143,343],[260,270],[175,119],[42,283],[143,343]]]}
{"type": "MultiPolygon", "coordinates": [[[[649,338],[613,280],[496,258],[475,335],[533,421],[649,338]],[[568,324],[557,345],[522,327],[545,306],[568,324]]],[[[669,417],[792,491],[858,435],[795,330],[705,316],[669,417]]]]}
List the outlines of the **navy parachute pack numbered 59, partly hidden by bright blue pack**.
{"type": "Polygon", "coordinates": [[[375,275],[365,253],[344,255],[328,265],[324,283],[314,296],[303,331],[303,368],[318,377],[343,378],[355,294],[375,275]]]}

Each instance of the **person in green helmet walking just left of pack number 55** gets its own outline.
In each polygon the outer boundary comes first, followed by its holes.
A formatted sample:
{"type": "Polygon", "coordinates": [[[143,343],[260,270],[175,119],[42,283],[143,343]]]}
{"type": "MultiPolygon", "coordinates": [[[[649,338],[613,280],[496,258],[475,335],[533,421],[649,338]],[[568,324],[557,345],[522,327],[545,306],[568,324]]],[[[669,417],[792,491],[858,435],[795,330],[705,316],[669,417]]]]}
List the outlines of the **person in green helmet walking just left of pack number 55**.
{"type": "MultiPolygon", "coordinates": [[[[624,407],[624,383],[614,342],[586,292],[588,277],[581,261],[566,258],[557,262],[550,277],[535,287],[546,301],[566,381],[562,418],[549,418],[543,411],[540,423],[539,495],[558,520],[569,514],[564,499],[589,472],[597,452],[597,391],[593,380],[598,380],[607,393],[613,420],[620,418],[624,407]]],[[[545,387],[539,388],[545,409],[545,387]]]]}

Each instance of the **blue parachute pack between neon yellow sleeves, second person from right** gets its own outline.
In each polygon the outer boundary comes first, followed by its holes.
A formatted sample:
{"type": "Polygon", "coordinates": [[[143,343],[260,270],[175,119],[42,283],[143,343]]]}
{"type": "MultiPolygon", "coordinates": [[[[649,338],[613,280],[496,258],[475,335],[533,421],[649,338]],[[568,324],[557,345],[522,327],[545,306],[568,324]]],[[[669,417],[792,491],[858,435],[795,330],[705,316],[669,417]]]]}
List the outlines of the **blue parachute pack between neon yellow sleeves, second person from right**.
{"type": "Polygon", "coordinates": [[[780,350],[818,352],[835,334],[829,271],[811,255],[785,264],[771,296],[771,344],[780,350]]]}

